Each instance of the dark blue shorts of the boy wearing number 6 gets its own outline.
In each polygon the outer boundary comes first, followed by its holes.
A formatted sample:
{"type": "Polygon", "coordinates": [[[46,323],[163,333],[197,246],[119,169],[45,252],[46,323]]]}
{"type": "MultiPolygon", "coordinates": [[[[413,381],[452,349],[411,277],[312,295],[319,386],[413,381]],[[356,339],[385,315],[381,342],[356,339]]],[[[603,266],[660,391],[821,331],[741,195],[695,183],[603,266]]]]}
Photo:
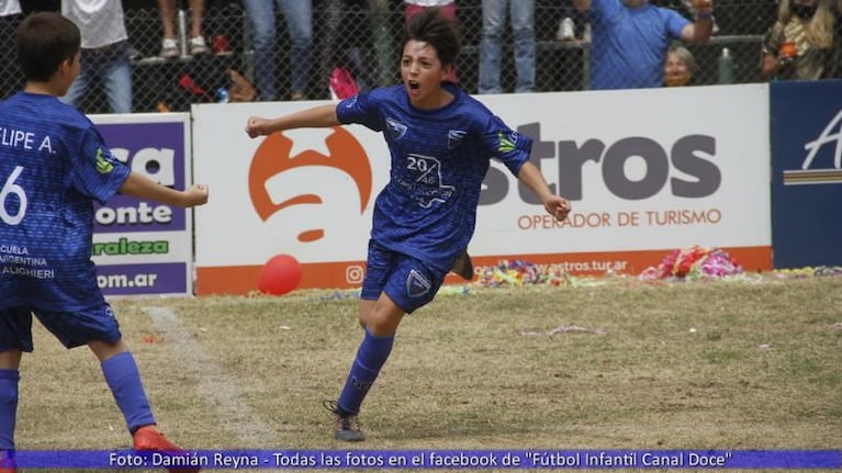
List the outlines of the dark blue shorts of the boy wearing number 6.
{"type": "Polygon", "coordinates": [[[20,307],[0,309],[0,351],[31,352],[32,315],[67,348],[80,347],[89,341],[119,341],[120,324],[111,305],[78,312],[52,312],[20,307]]]}

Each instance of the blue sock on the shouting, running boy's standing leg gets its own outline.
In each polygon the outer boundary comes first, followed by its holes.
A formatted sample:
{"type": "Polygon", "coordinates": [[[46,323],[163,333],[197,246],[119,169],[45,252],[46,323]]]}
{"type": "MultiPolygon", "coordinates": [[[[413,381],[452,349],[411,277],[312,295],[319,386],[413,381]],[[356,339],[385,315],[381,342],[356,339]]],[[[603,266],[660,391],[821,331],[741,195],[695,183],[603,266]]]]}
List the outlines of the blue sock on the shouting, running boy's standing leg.
{"type": "Polygon", "coordinates": [[[380,374],[380,369],[385,364],[389,353],[392,352],[392,345],[395,336],[375,337],[366,330],[366,337],[357,350],[357,358],[351,365],[351,372],[345,382],[343,394],[339,395],[338,406],[348,414],[360,412],[362,399],[369,392],[369,387],[374,383],[380,374]]]}

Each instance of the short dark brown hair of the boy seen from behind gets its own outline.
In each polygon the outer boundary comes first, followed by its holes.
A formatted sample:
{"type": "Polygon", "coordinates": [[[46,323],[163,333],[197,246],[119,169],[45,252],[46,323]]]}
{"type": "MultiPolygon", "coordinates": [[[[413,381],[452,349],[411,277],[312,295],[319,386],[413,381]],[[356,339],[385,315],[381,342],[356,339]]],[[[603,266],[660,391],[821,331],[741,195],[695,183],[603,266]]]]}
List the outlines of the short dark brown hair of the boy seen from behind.
{"type": "Polygon", "coordinates": [[[23,77],[47,82],[81,47],[81,33],[70,20],[54,12],[26,16],[18,27],[18,63],[23,77]]]}

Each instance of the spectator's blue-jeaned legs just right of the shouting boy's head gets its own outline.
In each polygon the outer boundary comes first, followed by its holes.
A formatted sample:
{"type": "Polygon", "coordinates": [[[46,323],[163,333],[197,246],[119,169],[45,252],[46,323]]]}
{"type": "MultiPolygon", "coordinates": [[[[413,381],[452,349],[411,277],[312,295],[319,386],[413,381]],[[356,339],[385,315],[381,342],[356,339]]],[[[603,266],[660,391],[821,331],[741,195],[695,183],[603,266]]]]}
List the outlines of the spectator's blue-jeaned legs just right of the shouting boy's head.
{"type": "Polygon", "coordinates": [[[503,92],[499,79],[501,42],[506,26],[507,4],[515,41],[515,92],[535,91],[535,1],[482,0],[480,93],[503,92]]]}

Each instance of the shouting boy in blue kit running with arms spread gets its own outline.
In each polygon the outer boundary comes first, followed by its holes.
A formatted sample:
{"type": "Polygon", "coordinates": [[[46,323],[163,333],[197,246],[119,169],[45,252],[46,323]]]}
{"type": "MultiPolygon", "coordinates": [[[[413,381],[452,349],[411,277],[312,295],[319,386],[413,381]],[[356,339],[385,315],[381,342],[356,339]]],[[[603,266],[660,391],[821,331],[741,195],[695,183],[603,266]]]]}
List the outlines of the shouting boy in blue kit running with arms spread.
{"type": "Polygon", "coordinates": [[[278,119],[250,117],[256,137],[299,127],[359,123],[382,132],[391,179],[378,195],[359,306],[362,344],[338,401],[335,437],[360,441],[357,415],[392,351],[404,314],[429,303],[471,239],[480,189],[497,158],[538,194],[559,221],[568,200],[553,195],[529,162],[532,142],[512,131],[446,78],[459,40],[438,9],[417,14],[402,44],[403,83],[278,119]]]}

